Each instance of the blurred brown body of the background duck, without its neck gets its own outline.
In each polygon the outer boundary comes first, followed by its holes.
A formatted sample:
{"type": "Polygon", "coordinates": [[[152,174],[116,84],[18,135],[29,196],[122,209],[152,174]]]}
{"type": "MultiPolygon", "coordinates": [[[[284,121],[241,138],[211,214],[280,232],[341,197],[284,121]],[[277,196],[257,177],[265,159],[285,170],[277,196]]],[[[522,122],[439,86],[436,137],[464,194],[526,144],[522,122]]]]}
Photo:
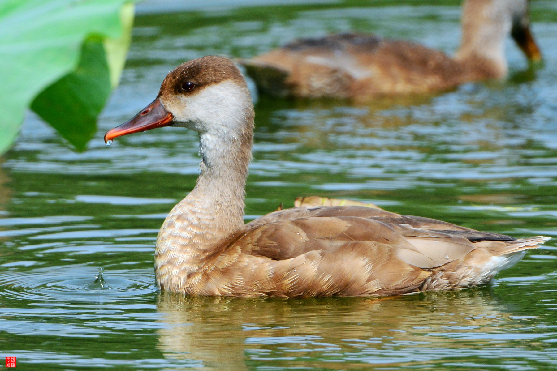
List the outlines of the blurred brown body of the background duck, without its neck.
{"type": "Polygon", "coordinates": [[[258,90],[282,97],[358,98],[448,90],[461,63],[417,43],[343,33],[301,39],[244,61],[258,90]]]}

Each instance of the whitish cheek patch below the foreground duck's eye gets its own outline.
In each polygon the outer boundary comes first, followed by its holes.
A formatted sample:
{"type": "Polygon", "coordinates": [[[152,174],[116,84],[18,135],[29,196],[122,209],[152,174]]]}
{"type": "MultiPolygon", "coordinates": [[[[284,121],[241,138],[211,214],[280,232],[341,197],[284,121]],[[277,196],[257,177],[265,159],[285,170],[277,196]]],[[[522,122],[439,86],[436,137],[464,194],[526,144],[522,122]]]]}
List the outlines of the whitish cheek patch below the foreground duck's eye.
{"type": "Polygon", "coordinates": [[[227,131],[240,128],[251,104],[247,88],[232,80],[223,81],[198,92],[175,96],[163,104],[174,116],[174,121],[186,123],[199,132],[227,131]]]}

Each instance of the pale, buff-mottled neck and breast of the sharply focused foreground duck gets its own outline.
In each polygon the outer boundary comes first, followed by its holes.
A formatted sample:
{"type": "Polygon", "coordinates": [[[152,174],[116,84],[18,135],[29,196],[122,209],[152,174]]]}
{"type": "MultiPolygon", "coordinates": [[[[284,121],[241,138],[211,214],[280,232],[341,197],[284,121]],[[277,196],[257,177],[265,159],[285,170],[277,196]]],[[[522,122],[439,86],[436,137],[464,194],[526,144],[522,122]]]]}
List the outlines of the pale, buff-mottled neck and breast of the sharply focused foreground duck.
{"type": "Polygon", "coordinates": [[[218,249],[244,226],[253,140],[251,100],[242,115],[227,118],[229,125],[198,130],[201,174],[194,189],[170,211],[157,238],[155,270],[161,287],[182,288],[175,271],[187,276],[209,269],[218,249]]]}

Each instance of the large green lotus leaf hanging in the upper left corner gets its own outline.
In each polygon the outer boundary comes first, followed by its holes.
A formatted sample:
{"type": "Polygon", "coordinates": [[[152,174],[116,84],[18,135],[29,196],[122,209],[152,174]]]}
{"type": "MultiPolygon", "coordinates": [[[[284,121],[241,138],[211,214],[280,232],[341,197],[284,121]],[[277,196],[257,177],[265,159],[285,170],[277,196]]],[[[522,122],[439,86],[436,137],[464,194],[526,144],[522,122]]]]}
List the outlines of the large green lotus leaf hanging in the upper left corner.
{"type": "Polygon", "coordinates": [[[132,22],[129,0],[0,2],[0,153],[30,106],[84,149],[118,84],[132,22]]]}

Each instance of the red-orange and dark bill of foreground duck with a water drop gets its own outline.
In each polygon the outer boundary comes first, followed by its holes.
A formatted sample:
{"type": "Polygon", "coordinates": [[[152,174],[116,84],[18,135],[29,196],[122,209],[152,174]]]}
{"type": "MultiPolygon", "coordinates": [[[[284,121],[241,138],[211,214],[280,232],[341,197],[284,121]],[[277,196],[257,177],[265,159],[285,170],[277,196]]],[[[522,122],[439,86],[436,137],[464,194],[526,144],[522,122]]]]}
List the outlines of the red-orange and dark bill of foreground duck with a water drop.
{"type": "Polygon", "coordinates": [[[170,125],[172,119],[172,113],[165,110],[163,103],[157,98],[131,120],[109,130],[105,134],[105,143],[108,144],[109,141],[112,142],[114,138],[119,136],[170,125]]]}

